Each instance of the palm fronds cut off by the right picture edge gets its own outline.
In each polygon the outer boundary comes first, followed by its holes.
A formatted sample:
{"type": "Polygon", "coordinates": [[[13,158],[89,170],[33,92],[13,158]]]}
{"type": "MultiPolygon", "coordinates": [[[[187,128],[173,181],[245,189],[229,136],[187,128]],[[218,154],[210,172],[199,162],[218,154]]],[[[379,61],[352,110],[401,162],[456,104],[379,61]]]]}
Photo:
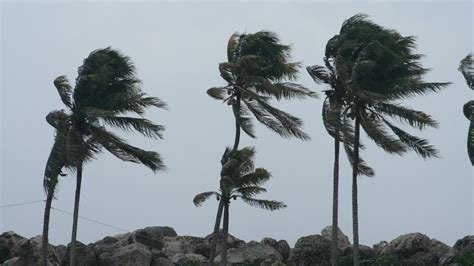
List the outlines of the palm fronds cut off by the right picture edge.
{"type": "MultiPolygon", "coordinates": [[[[459,65],[459,71],[466,79],[467,86],[474,90],[474,65],[472,61],[472,54],[468,54],[459,65]]],[[[469,119],[469,130],[467,134],[467,153],[471,164],[474,165],[474,101],[469,101],[464,104],[464,115],[469,119]]]]}

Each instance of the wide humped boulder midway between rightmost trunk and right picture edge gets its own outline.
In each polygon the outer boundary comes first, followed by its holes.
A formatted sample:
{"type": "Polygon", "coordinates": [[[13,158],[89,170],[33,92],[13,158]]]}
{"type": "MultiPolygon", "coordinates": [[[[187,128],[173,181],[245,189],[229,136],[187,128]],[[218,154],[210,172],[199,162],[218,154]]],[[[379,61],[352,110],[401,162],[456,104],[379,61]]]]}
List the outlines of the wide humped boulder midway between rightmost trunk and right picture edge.
{"type": "Polygon", "coordinates": [[[382,255],[395,255],[408,259],[417,252],[429,252],[431,241],[420,233],[411,233],[401,235],[390,242],[390,244],[382,250],[382,255]]]}

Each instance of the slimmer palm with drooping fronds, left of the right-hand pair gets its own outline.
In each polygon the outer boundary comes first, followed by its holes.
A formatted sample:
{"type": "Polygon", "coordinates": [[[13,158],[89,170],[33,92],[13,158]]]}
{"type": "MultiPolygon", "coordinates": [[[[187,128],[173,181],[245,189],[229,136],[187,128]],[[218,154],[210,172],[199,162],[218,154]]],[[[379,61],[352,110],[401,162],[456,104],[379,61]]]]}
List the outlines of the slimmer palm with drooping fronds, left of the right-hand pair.
{"type": "MultiPolygon", "coordinates": [[[[314,65],[306,68],[311,78],[317,84],[325,84],[328,89],[324,91],[326,98],[323,103],[322,117],[324,126],[331,137],[334,138],[334,166],[333,166],[333,205],[331,226],[331,265],[337,265],[338,247],[338,198],[339,198],[339,150],[340,142],[344,144],[347,155],[352,161],[352,144],[354,128],[342,115],[345,108],[345,90],[337,77],[333,62],[324,58],[324,66],[314,65]]],[[[359,163],[359,173],[373,176],[374,171],[363,160],[359,163]]]]}

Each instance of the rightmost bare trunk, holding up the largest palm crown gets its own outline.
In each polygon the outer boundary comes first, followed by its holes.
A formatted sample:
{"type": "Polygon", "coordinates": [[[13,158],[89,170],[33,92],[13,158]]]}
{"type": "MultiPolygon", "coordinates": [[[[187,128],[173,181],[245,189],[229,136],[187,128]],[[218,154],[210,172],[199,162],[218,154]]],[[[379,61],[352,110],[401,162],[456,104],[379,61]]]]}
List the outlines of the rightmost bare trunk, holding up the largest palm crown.
{"type": "Polygon", "coordinates": [[[354,266],[359,266],[359,216],[357,205],[357,169],[359,168],[359,136],[360,136],[360,117],[355,119],[355,138],[354,138],[354,162],[352,165],[352,234],[353,234],[353,253],[354,266]]]}

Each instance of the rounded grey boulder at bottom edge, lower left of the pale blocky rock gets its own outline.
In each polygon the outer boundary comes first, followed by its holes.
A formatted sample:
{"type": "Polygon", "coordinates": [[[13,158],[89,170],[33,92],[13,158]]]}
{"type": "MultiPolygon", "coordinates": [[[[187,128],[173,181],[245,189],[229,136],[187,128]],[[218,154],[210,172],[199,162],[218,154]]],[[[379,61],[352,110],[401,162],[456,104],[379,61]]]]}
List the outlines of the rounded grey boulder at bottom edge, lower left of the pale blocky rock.
{"type": "Polygon", "coordinates": [[[128,266],[128,265],[150,265],[151,252],[140,243],[133,243],[120,247],[110,258],[110,265],[128,266]]]}

